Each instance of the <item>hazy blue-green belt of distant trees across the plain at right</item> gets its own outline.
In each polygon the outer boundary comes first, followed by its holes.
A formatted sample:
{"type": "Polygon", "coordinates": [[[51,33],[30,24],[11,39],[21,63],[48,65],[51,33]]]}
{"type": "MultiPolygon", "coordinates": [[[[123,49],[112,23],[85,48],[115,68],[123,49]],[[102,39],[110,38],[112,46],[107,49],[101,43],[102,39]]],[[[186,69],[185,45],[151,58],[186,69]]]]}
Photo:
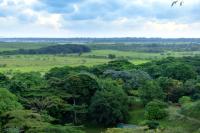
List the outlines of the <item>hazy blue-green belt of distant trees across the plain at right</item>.
{"type": "Polygon", "coordinates": [[[91,49],[95,50],[122,50],[122,51],[136,51],[136,52],[149,52],[161,53],[165,51],[200,51],[199,43],[116,43],[116,44],[91,44],[88,45],[91,49]]]}

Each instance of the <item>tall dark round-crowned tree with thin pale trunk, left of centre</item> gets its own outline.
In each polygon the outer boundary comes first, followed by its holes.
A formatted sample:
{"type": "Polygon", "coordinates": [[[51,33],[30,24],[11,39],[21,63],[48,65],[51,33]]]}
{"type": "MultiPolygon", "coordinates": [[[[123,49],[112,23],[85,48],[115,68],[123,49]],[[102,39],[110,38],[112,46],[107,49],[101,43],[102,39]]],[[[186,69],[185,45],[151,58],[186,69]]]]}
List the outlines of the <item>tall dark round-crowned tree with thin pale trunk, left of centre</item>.
{"type": "MultiPolygon", "coordinates": [[[[99,89],[97,81],[88,74],[75,74],[67,78],[65,90],[71,95],[69,103],[74,114],[74,123],[78,123],[77,114],[86,114],[91,98],[99,89]]],[[[79,116],[81,117],[81,116],[79,116]]]]}

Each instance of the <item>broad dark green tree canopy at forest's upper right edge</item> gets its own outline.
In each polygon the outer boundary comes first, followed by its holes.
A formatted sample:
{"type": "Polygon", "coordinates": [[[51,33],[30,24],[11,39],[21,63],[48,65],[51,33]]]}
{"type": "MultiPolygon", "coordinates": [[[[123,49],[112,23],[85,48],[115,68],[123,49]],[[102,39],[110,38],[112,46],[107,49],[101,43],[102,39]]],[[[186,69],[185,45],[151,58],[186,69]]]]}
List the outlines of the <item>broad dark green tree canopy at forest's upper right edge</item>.
{"type": "Polygon", "coordinates": [[[179,58],[168,57],[141,65],[141,67],[154,78],[162,76],[186,81],[197,77],[196,68],[179,58]]]}

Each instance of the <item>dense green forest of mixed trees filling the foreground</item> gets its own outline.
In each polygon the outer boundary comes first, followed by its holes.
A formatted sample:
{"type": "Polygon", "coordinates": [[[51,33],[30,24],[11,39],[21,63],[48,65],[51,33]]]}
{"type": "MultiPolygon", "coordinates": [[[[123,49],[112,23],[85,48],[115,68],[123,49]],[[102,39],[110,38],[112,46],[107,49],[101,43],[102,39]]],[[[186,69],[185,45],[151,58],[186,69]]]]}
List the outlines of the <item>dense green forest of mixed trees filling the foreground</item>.
{"type": "Polygon", "coordinates": [[[133,129],[106,133],[190,132],[200,130],[200,57],[166,58],[134,65],[113,60],[93,67],[57,67],[0,75],[0,131],[82,133],[129,123],[131,111],[144,117],[133,129]],[[176,108],[176,111],[171,111],[176,108]],[[187,126],[163,122],[186,121],[187,126]],[[191,125],[189,125],[191,124],[191,125]]]}

